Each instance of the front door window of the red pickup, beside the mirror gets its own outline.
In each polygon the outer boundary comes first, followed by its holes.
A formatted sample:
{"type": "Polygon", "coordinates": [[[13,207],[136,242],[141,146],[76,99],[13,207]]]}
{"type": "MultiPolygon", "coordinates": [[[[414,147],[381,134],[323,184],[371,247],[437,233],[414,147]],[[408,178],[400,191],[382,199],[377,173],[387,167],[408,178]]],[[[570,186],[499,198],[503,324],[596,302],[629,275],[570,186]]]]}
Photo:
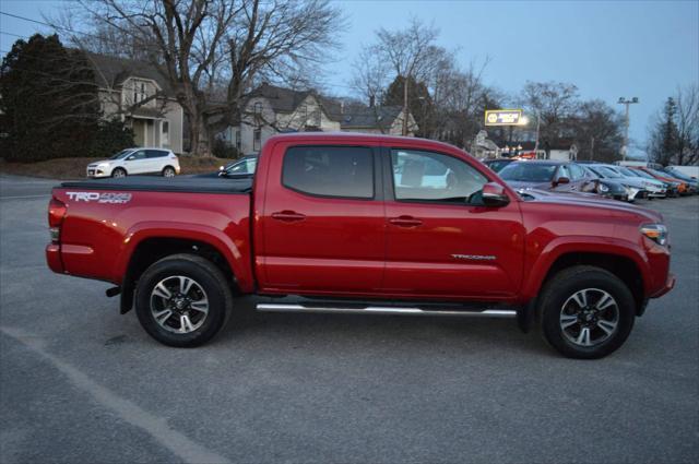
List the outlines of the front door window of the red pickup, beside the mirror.
{"type": "Polygon", "coordinates": [[[488,181],[463,160],[437,153],[393,150],[391,163],[396,200],[462,203],[488,181]]]}

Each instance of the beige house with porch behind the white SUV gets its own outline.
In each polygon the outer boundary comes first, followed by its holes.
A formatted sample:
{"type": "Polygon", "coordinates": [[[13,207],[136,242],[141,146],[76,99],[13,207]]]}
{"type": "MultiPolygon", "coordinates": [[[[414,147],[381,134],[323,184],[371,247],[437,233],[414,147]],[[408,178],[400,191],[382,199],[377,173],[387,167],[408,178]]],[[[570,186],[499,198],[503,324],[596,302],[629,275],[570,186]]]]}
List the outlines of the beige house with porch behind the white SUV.
{"type": "Polygon", "coordinates": [[[159,73],[147,62],[86,53],[99,87],[106,119],[131,127],[138,146],[182,153],[182,107],[159,73]]]}

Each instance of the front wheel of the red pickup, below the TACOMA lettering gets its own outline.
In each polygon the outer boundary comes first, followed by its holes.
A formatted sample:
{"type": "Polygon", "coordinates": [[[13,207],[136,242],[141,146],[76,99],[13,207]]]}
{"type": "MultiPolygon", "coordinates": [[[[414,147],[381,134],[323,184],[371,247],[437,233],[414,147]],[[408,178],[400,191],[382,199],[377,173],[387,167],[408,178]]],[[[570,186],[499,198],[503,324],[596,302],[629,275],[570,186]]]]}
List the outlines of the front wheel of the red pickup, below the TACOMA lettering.
{"type": "Polygon", "coordinates": [[[616,275],[579,265],[560,271],[545,285],[537,312],[544,338],[560,354],[597,359],[626,342],[636,304],[616,275]]]}

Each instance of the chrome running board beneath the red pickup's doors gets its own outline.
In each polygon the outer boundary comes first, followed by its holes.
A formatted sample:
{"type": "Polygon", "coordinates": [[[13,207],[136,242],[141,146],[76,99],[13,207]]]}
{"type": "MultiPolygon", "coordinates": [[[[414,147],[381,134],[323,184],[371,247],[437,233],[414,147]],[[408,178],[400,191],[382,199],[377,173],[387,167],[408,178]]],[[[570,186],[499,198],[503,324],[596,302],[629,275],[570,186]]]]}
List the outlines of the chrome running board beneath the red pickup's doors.
{"type": "Polygon", "coordinates": [[[367,306],[365,308],[343,308],[341,306],[305,306],[283,304],[258,304],[256,310],[262,312],[324,312],[336,314],[404,314],[404,316],[458,316],[470,318],[514,318],[511,309],[484,309],[483,311],[433,310],[420,308],[400,308],[367,306]]]}

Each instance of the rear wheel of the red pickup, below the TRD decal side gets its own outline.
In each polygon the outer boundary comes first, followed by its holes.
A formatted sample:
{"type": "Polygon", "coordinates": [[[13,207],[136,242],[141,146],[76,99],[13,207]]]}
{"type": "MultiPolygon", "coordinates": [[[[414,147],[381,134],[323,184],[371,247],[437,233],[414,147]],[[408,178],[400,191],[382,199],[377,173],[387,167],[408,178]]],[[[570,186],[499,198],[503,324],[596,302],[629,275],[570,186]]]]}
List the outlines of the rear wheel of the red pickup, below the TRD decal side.
{"type": "Polygon", "coordinates": [[[141,326],[168,346],[194,347],[209,342],[225,325],[232,309],[233,295],[223,272],[194,254],[173,254],[155,262],[137,286],[135,312],[141,326]]]}

